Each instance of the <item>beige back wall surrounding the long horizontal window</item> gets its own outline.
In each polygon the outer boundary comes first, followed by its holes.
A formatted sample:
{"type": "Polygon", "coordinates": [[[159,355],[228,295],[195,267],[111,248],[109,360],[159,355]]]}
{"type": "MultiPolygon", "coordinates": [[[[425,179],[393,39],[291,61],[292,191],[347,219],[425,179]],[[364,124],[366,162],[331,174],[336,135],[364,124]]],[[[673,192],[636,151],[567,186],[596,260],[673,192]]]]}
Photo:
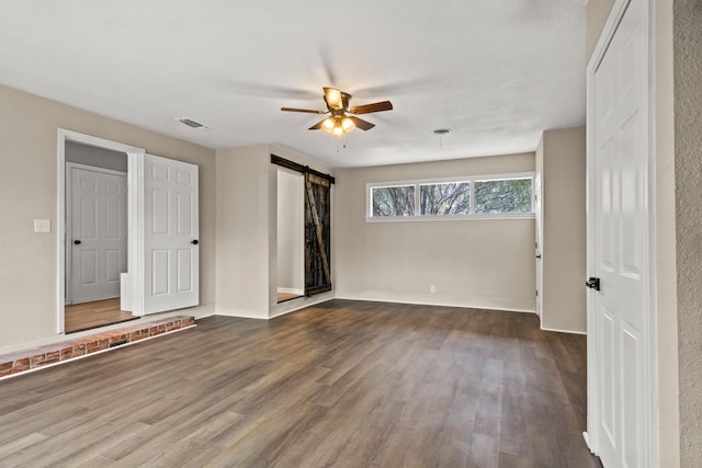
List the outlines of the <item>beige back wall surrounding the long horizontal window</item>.
{"type": "Polygon", "coordinates": [[[534,311],[533,219],[364,218],[370,182],[533,170],[534,153],[337,170],[337,297],[534,311]]]}

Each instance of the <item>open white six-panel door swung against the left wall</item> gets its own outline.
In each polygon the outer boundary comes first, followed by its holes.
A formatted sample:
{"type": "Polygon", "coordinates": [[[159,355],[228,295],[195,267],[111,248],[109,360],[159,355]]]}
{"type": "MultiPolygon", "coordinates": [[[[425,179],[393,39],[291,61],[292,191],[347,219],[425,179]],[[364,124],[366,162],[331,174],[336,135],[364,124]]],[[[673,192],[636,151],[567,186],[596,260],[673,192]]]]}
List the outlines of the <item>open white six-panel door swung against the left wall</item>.
{"type": "Polygon", "coordinates": [[[143,313],[197,306],[197,165],[144,155],[143,178],[143,313]]]}

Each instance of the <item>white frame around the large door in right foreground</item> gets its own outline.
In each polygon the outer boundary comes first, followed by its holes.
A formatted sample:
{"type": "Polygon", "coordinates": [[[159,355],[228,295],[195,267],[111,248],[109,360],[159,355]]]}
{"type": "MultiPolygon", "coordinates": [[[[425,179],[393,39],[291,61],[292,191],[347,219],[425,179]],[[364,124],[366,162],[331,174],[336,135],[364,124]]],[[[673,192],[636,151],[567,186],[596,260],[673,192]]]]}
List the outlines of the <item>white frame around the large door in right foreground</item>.
{"type": "MultiPolygon", "coordinates": [[[[593,214],[596,209],[596,198],[595,198],[595,173],[593,173],[593,161],[595,161],[595,73],[599,68],[602,59],[604,58],[604,54],[614,37],[616,28],[626,12],[626,9],[631,1],[642,1],[644,2],[645,10],[645,19],[647,26],[647,36],[644,42],[646,60],[648,66],[646,67],[649,70],[647,77],[645,77],[645,85],[647,88],[647,92],[645,94],[644,107],[647,109],[648,115],[645,116],[647,119],[647,151],[648,151],[648,174],[649,181],[653,182],[655,174],[655,161],[654,161],[654,94],[655,87],[653,80],[653,72],[650,71],[650,64],[654,64],[653,53],[654,53],[654,44],[653,38],[655,37],[654,24],[653,21],[654,8],[652,4],[652,0],[615,0],[612,5],[612,10],[610,15],[602,27],[602,33],[600,38],[595,47],[592,56],[590,57],[590,61],[587,67],[587,270],[588,272],[596,271],[596,260],[595,260],[595,224],[593,224],[593,214]]],[[[646,327],[648,328],[648,342],[645,343],[646,352],[644,357],[644,372],[647,376],[647,385],[649,386],[648,395],[650,398],[646,402],[646,414],[644,414],[644,422],[646,427],[644,429],[646,435],[646,442],[648,444],[648,459],[646,460],[647,466],[655,467],[658,465],[658,370],[657,370],[657,326],[656,326],[656,298],[655,298],[655,288],[653,285],[656,282],[655,276],[655,205],[653,201],[655,199],[655,187],[654,183],[648,184],[648,284],[647,284],[647,296],[648,296],[648,318],[646,327]]],[[[598,379],[596,373],[597,365],[597,353],[596,353],[596,334],[597,334],[597,323],[596,323],[596,307],[595,307],[595,293],[592,289],[588,289],[588,391],[587,391],[587,407],[588,407],[588,426],[587,432],[584,433],[585,440],[588,444],[590,450],[595,454],[599,452],[600,440],[597,427],[599,427],[599,414],[600,414],[600,404],[598,397],[598,379]]]]}

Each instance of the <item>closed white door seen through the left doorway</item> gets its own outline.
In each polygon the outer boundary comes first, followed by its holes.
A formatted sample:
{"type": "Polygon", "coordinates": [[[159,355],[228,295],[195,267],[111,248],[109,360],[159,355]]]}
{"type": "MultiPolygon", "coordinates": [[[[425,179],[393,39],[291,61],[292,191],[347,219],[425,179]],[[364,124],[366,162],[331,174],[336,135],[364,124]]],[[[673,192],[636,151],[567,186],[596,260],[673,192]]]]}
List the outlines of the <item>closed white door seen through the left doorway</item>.
{"type": "Polygon", "coordinates": [[[120,297],[127,270],[126,174],[70,167],[72,304],[120,297]]]}

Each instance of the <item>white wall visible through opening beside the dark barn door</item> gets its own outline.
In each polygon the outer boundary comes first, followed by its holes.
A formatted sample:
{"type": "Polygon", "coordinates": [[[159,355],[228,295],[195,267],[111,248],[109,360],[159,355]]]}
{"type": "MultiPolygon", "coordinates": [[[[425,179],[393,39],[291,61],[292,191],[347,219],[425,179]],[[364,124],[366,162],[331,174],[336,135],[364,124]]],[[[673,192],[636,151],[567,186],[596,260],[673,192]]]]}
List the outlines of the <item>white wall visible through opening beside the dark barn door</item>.
{"type": "Polygon", "coordinates": [[[278,288],[305,288],[305,178],[278,170],[278,288]]]}

